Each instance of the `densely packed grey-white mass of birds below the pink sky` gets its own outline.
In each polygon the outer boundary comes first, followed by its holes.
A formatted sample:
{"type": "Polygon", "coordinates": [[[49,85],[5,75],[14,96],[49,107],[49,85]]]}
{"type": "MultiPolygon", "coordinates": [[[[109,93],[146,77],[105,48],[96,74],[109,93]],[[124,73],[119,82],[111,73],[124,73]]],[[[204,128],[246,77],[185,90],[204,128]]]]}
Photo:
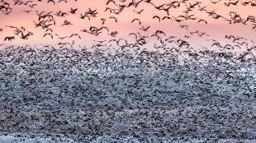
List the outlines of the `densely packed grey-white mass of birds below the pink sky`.
{"type": "Polygon", "coordinates": [[[21,141],[254,141],[255,56],[186,50],[2,48],[0,131],[21,141]]]}

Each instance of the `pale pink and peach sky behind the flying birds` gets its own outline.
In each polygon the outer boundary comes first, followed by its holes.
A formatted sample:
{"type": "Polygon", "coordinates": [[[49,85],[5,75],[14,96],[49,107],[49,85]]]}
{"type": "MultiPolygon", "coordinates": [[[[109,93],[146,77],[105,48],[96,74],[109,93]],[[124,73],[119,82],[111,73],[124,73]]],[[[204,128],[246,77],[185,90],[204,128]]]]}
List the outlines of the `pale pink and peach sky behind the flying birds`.
{"type": "MultiPolygon", "coordinates": [[[[27,0],[28,1],[28,0],[27,0]]],[[[242,5],[243,2],[239,0],[237,6],[230,5],[230,7],[225,6],[225,2],[236,2],[233,0],[212,0],[212,2],[216,2],[216,4],[207,0],[188,0],[182,2],[182,0],[178,1],[180,3],[180,7],[171,7],[169,9],[169,17],[174,20],[173,17],[177,16],[185,16],[184,11],[186,7],[190,5],[201,2],[200,7],[206,7],[206,11],[200,11],[198,6],[192,8],[192,11],[187,13],[187,15],[193,15],[192,17],[196,17],[196,20],[187,20],[182,22],[172,21],[171,19],[165,19],[164,21],[158,21],[157,19],[153,19],[153,16],[164,17],[167,16],[167,13],[164,11],[159,11],[152,4],[147,2],[140,2],[138,7],[127,7],[121,12],[119,15],[114,13],[105,12],[106,7],[111,7],[113,9],[118,8],[113,2],[109,2],[107,4],[107,0],[67,0],[67,2],[58,2],[59,0],[55,0],[55,5],[53,2],[47,2],[48,0],[34,0],[33,2],[29,2],[29,4],[25,5],[26,0],[22,0],[21,5],[14,5],[14,2],[11,0],[2,0],[0,1],[0,6],[3,5],[3,2],[8,2],[9,7],[12,8],[12,12],[8,15],[4,14],[4,10],[0,12],[0,29],[2,28],[2,32],[0,32],[0,44],[7,45],[36,45],[36,44],[51,44],[55,45],[59,42],[71,42],[74,41],[76,44],[82,46],[88,46],[95,44],[96,40],[110,40],[110,39],[127,39],[132,42],[135,41],[135,37],[129,35],[132,32],[140,32],[141,35],[149,36],[147,42],[150,45],[156,44],[156,38],[150,38],[151,35],[155,33],[156,30],[162,30],[165,32],[166,37],[168,36],[178,36],[179,39],[184,39],[189,41],[193,47],[200,46],[211,46],[211,39],[216,39],[220,43],[226,44],[230,41],[225,39],[225,35],[235,35],[244,37],[247,40],[256,40],[256,28],[253,30],[254,24],[253,22],[247,22],[246,25],[242,23],[232,23],[230,24],[228,21],[224,21],[223,19],[214,19],[211,16],[208,16],[207,12],[215,11],[218,15],[224,16],[230,19],[230,12],[236,12],[242,19],[245,21],[248,16],[255,16],[255,8],[250,4],[247,6],[242,5]],[[30,4],[36,4],[35,7],[29,7],[30,4]],[[70,7],[78,8],[76,14],[69,13],[70,7]],[[86,17],[84,20],[80,19],[79,16],[81,13],[87,12],[88,9],[97,10],[97,17],[92,17],[91,20],[88,20],[86,17]],[[140,10],[144,9],[141,14],[137,14],[140,10]],[[29,10],[30,13],[22,12],[29,10]],[[56,21],[56,25],[51,25],[50,28],[53,29],[52,35],[54,38],[51,39],[50,36],[45,36],[45,30],[41,27],[36,27],[33,21],[38,21],[37,12],[68,12],[68,16],[60,17],[55,16],[54,19],[56,21]],[[136,12],[134,12],[136,11],[136,12]],[[113,19],[109,19],[110,16],[115,16],[117,18],[117,22],[113,21],[113,19]],[[107,21],[104,25],[102,25],[101,18],[106,18],[107,21]],[[131,23],[131,21],[135,18],[139,18],[141,21],[141,25],[138,22],[131,23]],[[207,25],[204,22],[199,22],[200,19],[206,20],[207,25]],[[64,25],[64,21],[70,21],[73,25],[64,25]],[[28,39],[21,39],[21,35],[14,35],[13,29],[7,27],[6,25],[17,26],[20,28],[21,26],[26,28],[26,32],[31,31],[33,35],[31,35],[28,39]],[[209,36],[198,36],[196,34],[190,35],[190,33],[181,28],[180,25],[187,25],[187,29],[190,31],[200,31],[206,32],[209,36]],[[116,37],[112,37],[108,35],[106,30],[102,30],[102,33],[99,36],[90,35],[88,33],[81,32],[80,30],[86,29],[88,30],[90,26],[107,26],[111,31],[118,31],[118,35],[116,37]],[[142,31],[139,28],[141,26],[150,26],[149,31],[142,31]],[[60,36],[69,36],[72,34],[78,34],[82,37],[82,39],[78,39],[77,37],[67,38],[67,39],[58,39],[58,34],[60,36]],[[188,35],[189,37],[184,37],[188,35]],[[12,41],[4,41],[7,36],[15,36],[15,39],[12,41]]],[[[121,2],[121,0],[116,0],[116,4],[128,5],[132,0],[126,0],[125,2],[121,2]]],[[[138,1],[134,1],[138,2],[138,1]]],[[[164,7],[168,7],[166,4],[174,1],[170,0],[151,0],[155,6],[160,6],[165,4],[164,7]]],[[[254,2],[254,1],[252,1],[254,2]]],[[[255,2],[256,3],[256,2],[255,2]]],[[[183,18],[179,18],[183,19],[183,18]]],[[[26,33],[25,32],[25,33],[26,33]]]]}

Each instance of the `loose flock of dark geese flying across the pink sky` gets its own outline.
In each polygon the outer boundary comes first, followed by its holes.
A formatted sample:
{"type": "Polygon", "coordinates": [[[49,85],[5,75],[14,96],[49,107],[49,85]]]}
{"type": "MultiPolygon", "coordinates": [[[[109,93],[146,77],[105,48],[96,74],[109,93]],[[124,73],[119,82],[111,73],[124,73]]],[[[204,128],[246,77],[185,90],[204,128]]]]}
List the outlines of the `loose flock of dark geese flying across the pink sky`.
{"type": "MultiPolygon", "coordinates": [[[[198,35],[199,37],[210,37],[211,35],[207,34],[206,31],[192,31],[189,25],[184,24],[185,21],[196,21],[198,24],[205,24],[209,25],[208,21],[206,19],[201,19],[200,17],[197,17],[195,14],[193,14],[194,11],[200,11],[201,13],[205,13],[210,19],[216,19],[216,20],[222,20],[222,21],[227,21],[229,24],[242,24],[242,25],[249,25],[252,27],[252,30],[255,30],[256,27],[256,19],[254,15],[250,15],[247,17],[241,16],[238,12],[229,12],[228,16],[221,16],[220,13],[218,13],[216,10],[211,10],[211,7],[207,7],[203,5],[202,2],[190,2],[189,0],[181,0],[181,1],[170,1],[166,2],[160,5],[155,4],[152,0],[140,0],[140,1],[128,1],[128,0],[120,0],[120,1],[115,1],[115,0],[108,0],[106,2],[106,9],[105,12],[110,14],[111,16],[109,17],[101,17],[99,15],[99,11],[97,9],[92,9],[88,8],[88,11],[83,12],[83,13],[78,13],[79,9],[75,7],[70,7],[69,12],[63,12],[63,11],[58,11],[58,12],[45,12],[45,11],[39,11],[35,10],[38,5],[40,5],[41,1],[21,1],[21,0],[14,0],[13,2],[1,0],[0,1],[0,10],[2,14],[5,15],[11,15],[10,13],[12,12],[13,7],[18,6],[27,6],[29,7],[28,10],[23,10],[21,12],[26,12],[26,13],[31,13],[31,12],[36,12],[36,16],[38,16],[37,20],[34,20],[35,24],[35,29],[42,29],[45,31],[43,35],[41,35],[45,39],[60,39],[60,40],[77,40],[78,39],[83,39],[83,33],[89,34],[89,35],[94,35],[94,36],[99,36],[102,35],[106,30],[107,35],[111,36],[112,38],[116,38],[117,35],[119,35],[121,32],[118,30],[111,30],[108,28],[106,25],[107,21],[113,21],[118,23],[119,16],[122,16],[122,12],[125,12],[126,9],[133,9],[132,11],[135,12],[135,15],[144,15],[145,9],[138,9],[139,6],[144,6],[144,5],[149,5],[150,7],[153,7],[154,9],[158,10],[160,12],[166,13],[165,16],[161,15],[155,15],[152,16],[153,21],[172,21],[172,22],[177,22],[180,24],[180,27],[187,30],[188,35],[184,35],[183,39],[191,39],[192,35],[198,35]],[[170,12],[172,9],[178,9],[180,7],[186,7],[183,11],[183,15],[179,16],[172,16],[172,13],[170,12]],[[102,26],[90,26],[88,29],[81,29],[80,33],[73,33],[70,35],[59,35],[58,33],[55,32],[55,26],[59,25],[60,27],[63,26],[76,26],[76,24],[73,21],[69,21],[69,19],[66,19],[62,23],[59,24],[58,19],[56,17],[67,17],[67,16],[79,16],[81,20],[88,20],[91,21],[92,18],[99,18],[102,26]],[[81,33],[82,32],[82,33],[81,33]]],[[[71,0],[48,0],[46,1],[48,5],[57,5],[58,3],[66,2],[69,3],[71,0]]],[[[78,1],[76,1],[78,2],[78,1]]],[[[221,4],[220,0],[216,1],[211,1],[211,4],[221,4]]],[[[246,6],[246,7],[255,7],[256,2],[254,0],[244,2],[244,1],[230,1],[230,2],[222,2],[222,4],[225,7],[235,7],[238,5],[241,6],[246,6]]],[[[135,33],[140,34],[141,32],[145,32],[145,35],[149,33],[150,26],[149,25],[144,25],[143,20],[140,20],[139,18],[134,18],[130,20],[131,24],[138,24],[140,27],[135,33]]],[[[14,39],[30,39],[34,35],[34,31],[28,30],[31,29],[31,27],[25,27],[24,25],[21,27],[17,26],[12,26],[12,25],[5,25],[5,27],[0,27],[0,32],[2,34],[5,33],[8,29],[13,30],[14,35],[6,35],[3,39],[3,41],[12,41],[14,39]]],[[[0,33],[0,35],[1,35],[0,33]]],[[[149,35],[146,35],[149,36],[149,35]]],[[[140,37],[141,38],[141,37],[140,37]]],[[[142,37],[144,38],[144,37],[142,37]]],[[[156,36],[156,38],[159,38],[156,36]]],[[[136,39],[140,40],[140,39],[136,39]]],[[[216,44],[217,46],[220,47],[219,44],[216,44]]]]}

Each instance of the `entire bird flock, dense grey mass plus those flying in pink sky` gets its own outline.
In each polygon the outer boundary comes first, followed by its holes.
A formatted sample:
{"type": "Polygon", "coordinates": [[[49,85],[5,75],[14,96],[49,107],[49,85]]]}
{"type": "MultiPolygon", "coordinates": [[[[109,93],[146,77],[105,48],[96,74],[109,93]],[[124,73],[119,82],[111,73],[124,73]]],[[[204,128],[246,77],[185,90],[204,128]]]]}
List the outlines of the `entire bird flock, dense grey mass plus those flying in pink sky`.
{"type": "MultiPolygon", "coordinates": [[[[13,0],[11,4],[0,0],[0,11],[10,15],[12,6],[22,5],[32,9],[22,12],[31,13],[42,1],[13,0]]],[[[53,5],[70,2],[46,1],[53,5]]],[[[225,7],[256,7],[254,0],[222,3],[225,7]]],[[[16,132],[21,141],[28,136],[50,136],[59,142],[67,138],[73,142],[255,141],[256,43],[225,35],[230,44],[208,39],[209,47],[193,48],[187,41],[191,35],[211,36],[183,24],[209,24],[191,14],[196,8],[212,19],[251,25],[255,30],[254,16],[244,18],[230,12],[230,17],[225,17],[201,2],[189,0],[161,5],[153,0],[108,0],[105,12],[113,16],[101,17],[101,26],[80,32],[99,36],[107,31],[111,39],[96,40],[89,48],[74,46],[76,39],[83,39],[80,33],[63,36],[52,27],[75,26],[69,20],[59,24],[55,16],[77,16],[78,8],[72,7],[69,12],[35,10],[35,28],[45,30],[42,37],[63,40],[55,45],[10,46],[9,41],[30,39],[35,32],[25,26],[0,27],[2,33],[14,31],[5,36],[6,43],[0,44],[0,134],[16,132]],[[135,39],[132,42],[117,38],[118,31],[104,26],[107,21],[118,22],[117,16],[127,8],[141,15],[145,10],[136,7],[142,3],[166,12],[166,16],[152,16],[153,20],[181,23],[180,28],[189,35],[180,38],[163,30],[149,35],[150,26],[135,18],[130,22],[140,27],[129,34],[135,39]],[[169,11],[181,5],[187,7],[183,15],[171,16],[169,11]],[[157,42],[145,48],[152,38],[157,42]]],[[[97,14],[97,9],[88,8],[79,16],[90,21],[97,14]]]]}

